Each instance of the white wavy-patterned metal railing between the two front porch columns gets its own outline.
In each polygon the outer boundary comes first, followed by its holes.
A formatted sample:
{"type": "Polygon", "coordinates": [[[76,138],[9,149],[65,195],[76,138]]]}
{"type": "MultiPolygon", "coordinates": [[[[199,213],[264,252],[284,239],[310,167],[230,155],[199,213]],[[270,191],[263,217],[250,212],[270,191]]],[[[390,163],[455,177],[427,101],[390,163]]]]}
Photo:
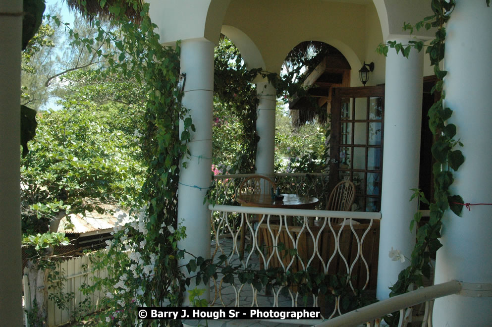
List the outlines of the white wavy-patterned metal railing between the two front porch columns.
{"type": "MultiPolygon", "coordinates": [[[[305,271],[310,267],[324,275],[345,275],[347,288],[376,285],[380,213],[294,210],[210,205],[212,211],[213,255],[225,255],[225,265],[242,269],[281,268],[284,272],[305,271]],[[241,229],[249,241],[240,253],[241,229]],[[225,238],[228,234],[231,238],[225,238]],[[283,246],[281,245],[283,243],[283,246]],[[215,248],[214,248],[215,246],[215,248]],[[292,250],[296,251],[292,251],[292,250]]],[[[221,275],[213,280],[212,305],[221,306],[305,306],[297,286],[282,285],[271,295],[236,277],[224,283],[221,275]],[[288,295],[282,295],[287,288],[288,295]]],[[[301,296],[302,298],[302,296],[301,296]]],[[[320,306],[323,296],[310,295],[307,305],[320,306]]],[[[327,301],[328,302],[328,301],[327,301]]],[[[325,317],[342,314],[340,296],[325,317]]]]}

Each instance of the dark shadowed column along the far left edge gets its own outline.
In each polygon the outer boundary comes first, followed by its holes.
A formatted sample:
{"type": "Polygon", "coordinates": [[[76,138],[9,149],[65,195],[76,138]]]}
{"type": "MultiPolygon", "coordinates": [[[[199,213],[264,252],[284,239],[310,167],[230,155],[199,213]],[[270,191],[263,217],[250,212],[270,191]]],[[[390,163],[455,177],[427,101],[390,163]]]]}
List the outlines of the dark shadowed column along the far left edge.
{"type": "Polygon", "coordinates": [[[1,1],[0,12],[0,317],[2,326],[22,326],[19,196],[22,1],[1,1]]]}

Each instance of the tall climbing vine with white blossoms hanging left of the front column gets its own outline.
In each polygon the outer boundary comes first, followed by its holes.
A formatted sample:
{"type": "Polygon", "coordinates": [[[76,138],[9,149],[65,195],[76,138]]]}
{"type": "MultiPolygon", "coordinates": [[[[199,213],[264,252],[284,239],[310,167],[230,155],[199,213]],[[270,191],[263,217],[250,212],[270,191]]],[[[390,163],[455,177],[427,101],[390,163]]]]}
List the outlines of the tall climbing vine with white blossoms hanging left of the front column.
{"type": "MultiPolygon", "coordinates": [[[[107,28],[108,24],[96,19],[85,1],[78,3],[98,29],[98,36],[96,40],[81,38],[64,24],[71,42],[83,44],[104,57],[109,63],[102,68],[106,72],[135,80],[146,98],[143,122],[135,130],[147,166],[136,201],[140,207],[133,208],[132,217],[119,213],[114,238],[107,241],[107,253],[92,256],[93,267],[108,269],[109,277],[97,278],[93,286],[84,290],[105,291],[101,304],[108,310],[101,313],[101,321],[133,326],[138,306],[180,306],[185,286],[190,283],[178,265],[184,251],[178,250],[177,242],[184,237],[185,228],[177,221],[177,189],[181,160],[186,161],[189,154],[187,142],[195,127],[188,110],[181,105],[182,92],[177,87],[179,44],[175,49],[161,45],[154,31],[157,26],[148,15],[149,4],[139,0],[100,0],[99,11],[111,16],[113,27],[107,28]],[[128,12],[137,17],[129,19],[128,12]],[[94,41],[107,47],[95,48],[94,41]]],[[[57,17],[48,18],[58,26],[62,24],[57,17]]],[[[163,321],[148,324],[158,326],[163,321]]],[[[180,322],[165,324],[179,326],[180,322]]]]}

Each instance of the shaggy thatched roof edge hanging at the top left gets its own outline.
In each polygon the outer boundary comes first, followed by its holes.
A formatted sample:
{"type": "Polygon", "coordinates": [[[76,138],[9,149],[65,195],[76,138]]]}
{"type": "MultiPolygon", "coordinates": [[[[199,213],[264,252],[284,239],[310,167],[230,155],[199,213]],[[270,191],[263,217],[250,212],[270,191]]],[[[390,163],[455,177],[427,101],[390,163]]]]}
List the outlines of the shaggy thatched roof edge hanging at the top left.
{"type": "Polygon", "coordinates": [[[76,10],[89,20],[93,20],[94,18],[111,19],[113,14],[109,12],[109,7],[115,3],[121,2],[123,3],[125,14],[129,20],[135,23],[140,23],[141,21],[140,12],[142,11],[143,0],[137,1],[137,8],[128,4],[126,0],[107,0],[104,7],[99,5],[98,0],[86,0],[86,5],[82,5],[80,0],[65,0],[65,2],[71,11],[76,10]]]}

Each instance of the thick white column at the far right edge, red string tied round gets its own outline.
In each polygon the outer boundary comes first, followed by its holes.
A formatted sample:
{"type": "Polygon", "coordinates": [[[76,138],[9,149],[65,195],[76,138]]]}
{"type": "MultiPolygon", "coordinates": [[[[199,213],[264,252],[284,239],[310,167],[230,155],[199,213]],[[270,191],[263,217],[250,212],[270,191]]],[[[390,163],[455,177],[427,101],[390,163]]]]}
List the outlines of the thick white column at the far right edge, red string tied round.
{"type": "MultiPolygon", "coordinates": [[[[465,162],[453,172],[452,194],[465,203],[492,203],[492,8],[485,0],[457,0],[446,24],[445,106],[465,162]]],[[[435,282],[458,280],[465,288],[492,287],[492,206],[463,208],[443,218],[435,282]],[[472,283],[474,285],[470,285],[472,283]],[[472,286],[472,287],[470,287],[472,286]],[[480,287],[479,287],[480,286],[480,287]]],[[[492,297],[485,292],[437,299],[434,326],[492,326],[492,297]],[[480,297],[478,297],[480,296],[480,297]]]]}

